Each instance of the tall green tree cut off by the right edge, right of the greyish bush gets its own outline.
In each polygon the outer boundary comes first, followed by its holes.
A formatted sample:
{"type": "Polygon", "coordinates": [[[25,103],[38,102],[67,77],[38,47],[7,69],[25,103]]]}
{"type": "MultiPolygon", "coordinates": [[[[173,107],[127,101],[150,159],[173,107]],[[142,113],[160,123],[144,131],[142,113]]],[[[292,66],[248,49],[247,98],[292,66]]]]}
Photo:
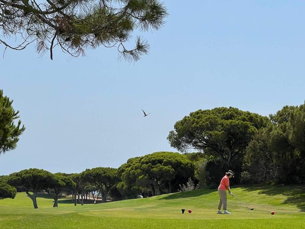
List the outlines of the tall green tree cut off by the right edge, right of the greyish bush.
{"type": "Polygon", "coordinates": [[[284,106],[266,130],[267,143],[274,152],[278,183],[304,183],[305,176],[305,109],[300,106],[284,106]],[[284,118],[283,118],[284,117],[284,118]]]}

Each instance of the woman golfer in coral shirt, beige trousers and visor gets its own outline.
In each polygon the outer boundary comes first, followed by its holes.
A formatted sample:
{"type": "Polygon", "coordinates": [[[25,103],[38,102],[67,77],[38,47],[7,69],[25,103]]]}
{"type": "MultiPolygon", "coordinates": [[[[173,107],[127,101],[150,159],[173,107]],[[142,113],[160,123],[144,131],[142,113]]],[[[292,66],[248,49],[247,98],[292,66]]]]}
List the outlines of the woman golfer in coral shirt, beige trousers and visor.
{"type": "Polygon", "coordinates": [[[232,170],[229,170],[228,173],[221,179],[220,185],[218,186],[218,194],[219,194],[219,205],[218,205],[218,214],[231,214],[227,211],[227,192],[229,191],[229,194],[233,196],[230,190],[230,182],[229,178],[234,177],[234,173],[232,170]],[[221,211],[221,205],[223,205],[224,213],[221,211]]]}

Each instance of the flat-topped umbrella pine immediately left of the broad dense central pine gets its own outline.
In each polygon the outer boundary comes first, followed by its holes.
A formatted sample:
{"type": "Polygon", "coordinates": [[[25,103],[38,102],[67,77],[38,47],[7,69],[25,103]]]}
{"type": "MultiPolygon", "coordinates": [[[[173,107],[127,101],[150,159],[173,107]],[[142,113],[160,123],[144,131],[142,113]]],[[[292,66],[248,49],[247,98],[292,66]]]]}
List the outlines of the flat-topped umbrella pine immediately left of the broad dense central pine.
{"type": "Polygon", "coordinates": [[[85,180],[97,187],[102,195],[102,203],[106,203],[106,198],[111,187],[118,181],[117,169],[97,167],[86,169],[83,172],[85,180]]]}

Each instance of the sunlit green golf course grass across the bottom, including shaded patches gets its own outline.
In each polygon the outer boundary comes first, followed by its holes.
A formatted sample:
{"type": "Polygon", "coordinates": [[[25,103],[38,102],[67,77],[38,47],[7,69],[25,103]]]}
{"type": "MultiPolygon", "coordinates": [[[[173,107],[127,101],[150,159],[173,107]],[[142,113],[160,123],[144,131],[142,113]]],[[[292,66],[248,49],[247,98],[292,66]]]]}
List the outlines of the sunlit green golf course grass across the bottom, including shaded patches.
{"type": "Polygon", "coordinates": [[[232,214],[216,214],[217,191],[203,189],[83,206],[60,199],[58,208],[52,207],[53,200],[47,195],[41,195],[37,198],[38,209],[25,193],[18,193],[13,200],[0,200],[0,228],[305,228],[304,187],[231,190],[254,210],[228,195],[232,214]],[[182,208],[186,209],[184,214],[182,208]],[[191,214],[188,209],[192,209],[191,214]]]}

